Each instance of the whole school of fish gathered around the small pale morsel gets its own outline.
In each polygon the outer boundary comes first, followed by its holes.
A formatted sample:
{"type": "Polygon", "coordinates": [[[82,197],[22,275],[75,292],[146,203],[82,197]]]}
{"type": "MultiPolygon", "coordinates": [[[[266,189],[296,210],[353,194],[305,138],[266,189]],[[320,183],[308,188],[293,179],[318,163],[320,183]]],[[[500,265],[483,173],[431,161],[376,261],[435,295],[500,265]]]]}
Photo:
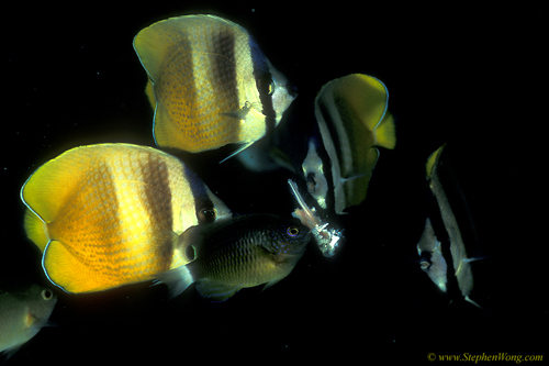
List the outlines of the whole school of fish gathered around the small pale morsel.
{"type": "MultiPolygon", "coordinates": [[[[42,253],[45,278],[70,293],[152,281],[177,296],[194,284],[201,297],[225,301],[288,277],[311,241],[325,256],[336,255],[345,228],[333,220],[363,204],[380,148],[396,144],[385,85],[362,74],[327,82],[302,138],[305,154],[276,140],[264,151],[293,173],[280,192],[293,196],[294,212],[237,214],[177,152],[228,146],[222,162],[242,156],[246,166],[246,149],[279,126],[296,88],[245,29],[219,16],[156,22],[133,46],[148,76],[158,148],[79,146],[27,178],[23,222],[42,253]]],[[[417,253],[440,290],[448,291],[455,276],[459,293],[477,304],[469,298],[472,259],[439,180],[444,149],[427,162],[438,211],[426,218],[417,253]]],[[[55,292],[37,285],[0,288],[0,352],[13,354],[47,325],[55,303],[55,292]]]]}

